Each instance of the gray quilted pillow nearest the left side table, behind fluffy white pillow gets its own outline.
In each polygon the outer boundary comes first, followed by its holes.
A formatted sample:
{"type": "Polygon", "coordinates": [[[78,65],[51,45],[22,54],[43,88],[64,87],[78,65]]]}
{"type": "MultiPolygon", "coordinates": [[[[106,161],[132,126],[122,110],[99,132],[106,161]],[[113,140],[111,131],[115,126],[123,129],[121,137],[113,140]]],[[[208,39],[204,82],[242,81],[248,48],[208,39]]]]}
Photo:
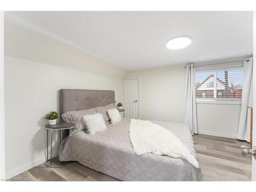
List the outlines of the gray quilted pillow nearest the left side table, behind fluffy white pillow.
{"type": "Polygon", "coordinates": [[[83,116],[84,115],[92,115],[96,114],[97,111],[95,108],[88,109],[88,110],[81,110],[81,111],[69,111],[65,114],[62,114],[61,117],[64,119],[66,123],[75,123],[73,129],[70,129],[69,136],[71,137],[74,133],[86,129],[86,125],[83,123],[83,116]]]}

